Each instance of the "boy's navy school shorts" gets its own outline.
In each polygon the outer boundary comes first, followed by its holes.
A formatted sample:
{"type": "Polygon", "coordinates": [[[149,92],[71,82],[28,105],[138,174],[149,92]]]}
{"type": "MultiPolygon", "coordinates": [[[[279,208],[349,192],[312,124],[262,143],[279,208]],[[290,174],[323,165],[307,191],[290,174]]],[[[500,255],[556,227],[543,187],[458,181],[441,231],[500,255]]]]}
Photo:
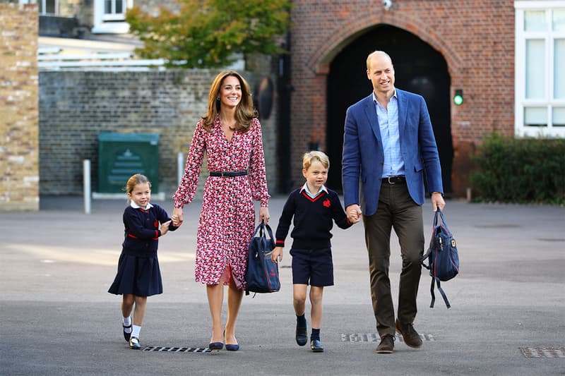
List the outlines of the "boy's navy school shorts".
{"type": "Polygon", "coordinates": [[[311,286],[333,286],[331,248],[290,249],[292,283],[311,286]]]}

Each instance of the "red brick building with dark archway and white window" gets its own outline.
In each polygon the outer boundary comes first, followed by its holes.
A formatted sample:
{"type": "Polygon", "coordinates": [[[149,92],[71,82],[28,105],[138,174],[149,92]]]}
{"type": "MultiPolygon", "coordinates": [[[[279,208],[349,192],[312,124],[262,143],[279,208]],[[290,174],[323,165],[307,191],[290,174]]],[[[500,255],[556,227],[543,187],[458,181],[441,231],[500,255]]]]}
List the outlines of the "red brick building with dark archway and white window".
{"type": "Polygon", "coordinates": [[[296,0],[294,4],[290,33],[290,180],[294,185],[302,181],[302,154],[319,146],[331,158],[328,185],[341,188],[345,111],[371,93],[365,61],[376,49],[391,55],[396,87],[427,100],[445,189],[453,195],[465,195],[470,186],[469,155],[486,133],[565,135],[565,1],[296,0]],[[456,90],[463,90],[459,106],[453,103],[456,90]]]}

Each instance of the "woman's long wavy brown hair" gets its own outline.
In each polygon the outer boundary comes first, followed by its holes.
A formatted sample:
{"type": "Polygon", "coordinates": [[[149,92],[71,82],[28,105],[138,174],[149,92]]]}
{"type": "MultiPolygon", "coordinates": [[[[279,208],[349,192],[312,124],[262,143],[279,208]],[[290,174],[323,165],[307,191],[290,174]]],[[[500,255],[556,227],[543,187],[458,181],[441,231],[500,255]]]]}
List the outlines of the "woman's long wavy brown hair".
{"type": "Polygon", "coordinates": [[[253,107],[251,90],[249,90],[247,81],[236,71],[222,71],[214,78],[212,86],[210,87],[210,94],[208,95],[208,112],[205,116],[202,116],[202,126],[207,132],[210,132],[210,128],[220,112],[221,102],[218,100],[218,95],[220,94],[225,78],[230,75],[237,78],[242,87],[242,100],[239,101],[235,108],[236,131],[249,131],[251,120],[257,117],[257,111],[253,107]]]}

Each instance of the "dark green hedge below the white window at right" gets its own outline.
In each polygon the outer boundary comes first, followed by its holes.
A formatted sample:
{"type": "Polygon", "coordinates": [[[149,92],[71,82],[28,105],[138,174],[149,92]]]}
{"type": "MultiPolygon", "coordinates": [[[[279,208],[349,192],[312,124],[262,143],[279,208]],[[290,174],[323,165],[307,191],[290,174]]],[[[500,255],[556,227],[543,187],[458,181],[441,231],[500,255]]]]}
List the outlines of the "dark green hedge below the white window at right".
{"type": "Polygon", "coordinates": [[[472,159],[477,200],[565,205],[565,140],[492,134],[472,159]]]}

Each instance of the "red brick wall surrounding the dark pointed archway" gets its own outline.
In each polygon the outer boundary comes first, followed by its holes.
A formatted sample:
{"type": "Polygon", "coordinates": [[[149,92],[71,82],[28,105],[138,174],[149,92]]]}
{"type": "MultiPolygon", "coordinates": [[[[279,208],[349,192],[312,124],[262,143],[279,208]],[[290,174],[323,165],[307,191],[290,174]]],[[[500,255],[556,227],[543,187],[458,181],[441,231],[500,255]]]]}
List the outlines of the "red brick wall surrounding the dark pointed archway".
{"type": "MultiPolygon", "coordinates": [[[[329,63],[356,35],[379,24],[420,37],[448,63],[451,95],[464,88],[465,104],[451,107],[453,191],[469,186],[468,155],[484,133],[513,134],[514,9],[512,0],[296,0],[292,10],[292,171],[301,181],[300,156],[315,129],[326,129],[329,63]]],[[[417,59],[417,56],[415,56],[417,59]]],[[[363,62],[364,64],[364,62],[363,62]]],[[[367,95],[369,92],[367,92],[367,95]]],[[[322,131],[323,132],[323,131],[322,131]]],[[[325,145],[325,136],[321,140],[325,145]]]]}

